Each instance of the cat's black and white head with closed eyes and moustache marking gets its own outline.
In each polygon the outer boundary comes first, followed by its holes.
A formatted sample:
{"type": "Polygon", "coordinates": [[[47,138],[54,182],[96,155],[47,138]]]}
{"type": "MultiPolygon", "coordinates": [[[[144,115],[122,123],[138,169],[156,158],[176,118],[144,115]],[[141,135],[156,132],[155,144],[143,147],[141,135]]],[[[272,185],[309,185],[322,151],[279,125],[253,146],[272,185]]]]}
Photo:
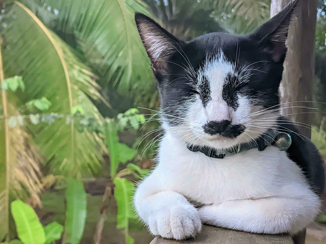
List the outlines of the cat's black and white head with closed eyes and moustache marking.
{"type": "Polygon", "coordinates": [[[279,115],[278,87],[297,3],[252,34],[211,33],[187,43],[137,13],[165,129],[185,142],[230,147],[271,128],[279,115]]]}

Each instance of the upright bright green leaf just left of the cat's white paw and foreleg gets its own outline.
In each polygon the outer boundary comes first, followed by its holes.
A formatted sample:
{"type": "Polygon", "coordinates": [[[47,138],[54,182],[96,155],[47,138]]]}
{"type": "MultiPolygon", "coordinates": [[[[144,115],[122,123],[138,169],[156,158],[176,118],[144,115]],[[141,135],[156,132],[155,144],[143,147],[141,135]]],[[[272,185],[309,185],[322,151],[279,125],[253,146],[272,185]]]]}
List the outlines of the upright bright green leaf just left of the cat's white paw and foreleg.
{"type": "Polygon", "coordinates": [[[132,182],[125,178],[116,177],[113,180],[115,184],[114,197],[117,200],[117,228],[124,228],[126,243],[134,243],[134,240],[128,234],[129,219],[137,219],[136,213],[132,205],[132,198],[135,187],[132,182]]]}

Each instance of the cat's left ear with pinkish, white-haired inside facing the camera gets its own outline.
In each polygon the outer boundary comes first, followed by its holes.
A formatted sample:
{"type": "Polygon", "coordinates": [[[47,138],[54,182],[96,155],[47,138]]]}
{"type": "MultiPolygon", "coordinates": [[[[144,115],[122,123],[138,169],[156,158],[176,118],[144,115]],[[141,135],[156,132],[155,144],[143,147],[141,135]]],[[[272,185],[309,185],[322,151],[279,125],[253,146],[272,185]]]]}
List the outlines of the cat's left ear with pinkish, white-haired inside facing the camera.
{"type": "Polygon", "coordinates": [[[164,72],[170,55],[181,48],[181,41],[146,15],[136,13],[135,21],[154,72],[164,72]]]}

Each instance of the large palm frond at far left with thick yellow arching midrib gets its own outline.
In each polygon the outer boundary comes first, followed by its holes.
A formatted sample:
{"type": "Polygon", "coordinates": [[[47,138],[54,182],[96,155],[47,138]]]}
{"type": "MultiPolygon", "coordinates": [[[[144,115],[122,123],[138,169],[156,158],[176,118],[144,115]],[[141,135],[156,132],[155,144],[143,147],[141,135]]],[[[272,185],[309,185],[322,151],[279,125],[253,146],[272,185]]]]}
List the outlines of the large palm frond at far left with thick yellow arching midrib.
{"type": "MultiPolygon", "coordinates": [[[[70,116],[76,105],[102,120],[92,98],[98,98],[93,75],[70,52],[59,37],[22,3],[6,9],[3,61],[5,76],[20,75],[26,89],[18,94],[21,103],[46,97],[51,107],[46,113],[70,116]]],[[[87,131],[79,132],[73,120],[56,119],[51,125],[30,126],[34,141],[50,161],[54,173],[81,177],[100,168],[102,141],[87,131]]]]}

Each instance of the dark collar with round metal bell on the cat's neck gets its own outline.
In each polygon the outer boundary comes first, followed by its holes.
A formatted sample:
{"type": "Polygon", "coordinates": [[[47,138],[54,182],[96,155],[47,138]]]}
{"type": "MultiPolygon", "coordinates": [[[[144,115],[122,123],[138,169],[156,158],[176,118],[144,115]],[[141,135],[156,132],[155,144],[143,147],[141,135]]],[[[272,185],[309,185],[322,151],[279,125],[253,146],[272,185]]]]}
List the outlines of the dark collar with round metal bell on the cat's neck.
{"type": "Polygon", "coordinates": [[[208,157],[222,159],[225,156],[239,154],[253,148],[258,148],[259,151],[263,151],[267,146],[271,145],[279,147],[281,151],[285,151],[290,147],[291,143],[291,136],[288,133],[279,132],[276,129],[269,129],[258,139],[241,143],[231,148],[217,149],[193,144],[187,144],[187,148],[192,152],[200,152],[208,157]]]}

